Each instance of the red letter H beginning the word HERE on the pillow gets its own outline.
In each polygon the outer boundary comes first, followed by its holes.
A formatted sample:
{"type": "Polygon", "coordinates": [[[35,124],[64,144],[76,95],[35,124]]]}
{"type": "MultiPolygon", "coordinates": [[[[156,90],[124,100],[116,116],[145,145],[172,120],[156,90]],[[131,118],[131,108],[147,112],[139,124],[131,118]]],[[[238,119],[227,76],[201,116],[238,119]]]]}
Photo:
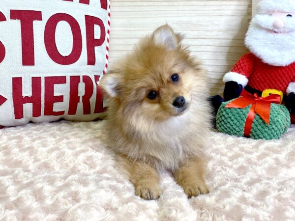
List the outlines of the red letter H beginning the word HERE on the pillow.
{"type": "Polygon", "coordinates": [[[32,103],[33,117],[41,115],[41,78],[32,78],[32,95],[23,96],[22,78],[12,78],[12,98],[15,119],[24,118],[24,104],[32,103]]]}

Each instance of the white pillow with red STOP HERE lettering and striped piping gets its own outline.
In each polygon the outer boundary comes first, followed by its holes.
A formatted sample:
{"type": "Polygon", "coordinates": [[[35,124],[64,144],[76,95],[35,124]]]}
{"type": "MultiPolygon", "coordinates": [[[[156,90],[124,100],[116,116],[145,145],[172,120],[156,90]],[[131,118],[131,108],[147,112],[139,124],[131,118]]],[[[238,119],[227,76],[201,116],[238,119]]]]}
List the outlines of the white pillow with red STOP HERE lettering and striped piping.
{"type": "Polygon", "coordinates": [[[109,0],[1,0],[0,126],[104,111],[109,0]]]}

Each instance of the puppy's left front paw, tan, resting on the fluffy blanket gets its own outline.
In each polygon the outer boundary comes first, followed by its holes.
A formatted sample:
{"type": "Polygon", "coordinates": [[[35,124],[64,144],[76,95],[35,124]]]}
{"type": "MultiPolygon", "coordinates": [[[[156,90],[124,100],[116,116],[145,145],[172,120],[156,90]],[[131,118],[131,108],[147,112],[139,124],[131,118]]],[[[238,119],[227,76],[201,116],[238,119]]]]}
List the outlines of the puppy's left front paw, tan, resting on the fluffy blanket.
{"type": "Polygon", "coordinates": [[[153,183],[149,180],[141,181],[135,186],[135,194],[142,197],[143,199],[158,199],[162,194],[159,184],[153,183]]]}

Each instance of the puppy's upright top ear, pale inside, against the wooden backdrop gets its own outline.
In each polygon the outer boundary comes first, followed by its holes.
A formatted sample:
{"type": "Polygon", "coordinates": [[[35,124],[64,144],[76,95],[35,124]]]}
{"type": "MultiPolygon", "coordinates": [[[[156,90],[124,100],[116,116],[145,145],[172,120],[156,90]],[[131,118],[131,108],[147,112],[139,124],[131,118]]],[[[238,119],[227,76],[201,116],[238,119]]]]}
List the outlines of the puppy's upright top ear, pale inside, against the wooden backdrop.
{"type": "Polygon", "coordinates": [[[175,33],[169,25],[164,25],[154,30],[152,39],[156,45],[165,46],[167,49],[173,50],[180,45],[182,36],[175,33]]]}

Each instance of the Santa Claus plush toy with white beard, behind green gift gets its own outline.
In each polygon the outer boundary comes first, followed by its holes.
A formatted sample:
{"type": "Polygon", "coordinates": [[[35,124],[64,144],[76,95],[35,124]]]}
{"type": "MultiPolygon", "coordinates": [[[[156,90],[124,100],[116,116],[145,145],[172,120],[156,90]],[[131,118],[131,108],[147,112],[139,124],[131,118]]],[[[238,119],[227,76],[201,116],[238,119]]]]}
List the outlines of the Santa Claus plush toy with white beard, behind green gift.
{"type": "Polygon", "coordinates": [[[224,76],[224,99],[212,102],[217,111],[239,96],[279,94],[295,123],[295,0],[262,0],[257,8],[245,38],[250,53],[224,76]]]}

